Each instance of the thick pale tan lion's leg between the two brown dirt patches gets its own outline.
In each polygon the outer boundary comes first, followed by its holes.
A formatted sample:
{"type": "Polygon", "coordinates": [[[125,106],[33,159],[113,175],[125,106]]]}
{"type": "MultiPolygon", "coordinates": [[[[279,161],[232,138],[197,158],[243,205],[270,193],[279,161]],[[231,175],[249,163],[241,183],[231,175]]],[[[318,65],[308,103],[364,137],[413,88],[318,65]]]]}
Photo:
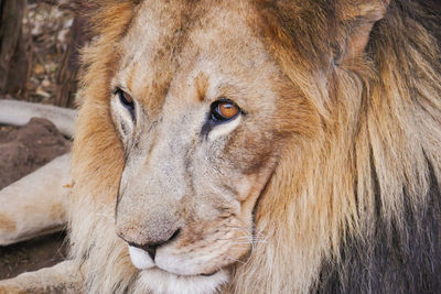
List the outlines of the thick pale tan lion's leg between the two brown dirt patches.
{"type": "Polygon", "coordinates": [[[71,153],[0,190],[0,246],[61,230],[71,193],[71,153]]]}

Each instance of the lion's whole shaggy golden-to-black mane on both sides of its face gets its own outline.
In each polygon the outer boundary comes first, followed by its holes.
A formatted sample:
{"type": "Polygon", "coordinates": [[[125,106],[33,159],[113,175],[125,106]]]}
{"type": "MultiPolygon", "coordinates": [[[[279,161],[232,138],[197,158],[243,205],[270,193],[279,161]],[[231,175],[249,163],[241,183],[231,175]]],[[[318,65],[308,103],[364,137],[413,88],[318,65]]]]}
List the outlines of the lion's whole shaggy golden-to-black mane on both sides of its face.
{"type": "MultiPolygon", "coordinates": [[[[109,112],[119,42],[143,1],[97,2],[97,36],[84,51],[78,94],[71,255],[86,292],[143,292],[116,236],[125,160],[109,112]]],[[[197,11],[215,3],[180,6],[196,22],[197,11]]],[[[440,4],[268,0],[245,7],[249,26],[289,79],[275,101],[286,143],[254,209],[265,242],[230,265],[220,291],[440,292],[440,4]]]]}

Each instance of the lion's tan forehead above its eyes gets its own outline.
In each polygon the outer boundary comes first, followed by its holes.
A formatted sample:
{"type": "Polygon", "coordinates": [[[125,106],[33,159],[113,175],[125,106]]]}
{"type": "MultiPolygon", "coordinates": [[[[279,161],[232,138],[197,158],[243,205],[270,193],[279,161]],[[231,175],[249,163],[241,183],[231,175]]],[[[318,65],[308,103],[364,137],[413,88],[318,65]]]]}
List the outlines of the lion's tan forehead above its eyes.
{"type": "MultiPolygon", "coordinates": [[[[257,75],[256,68],[269,64],[270,57],[250,28],[250,10],[245,14],[245,2],[226,2],[142,3],[120,43],[117,79],[139,97],[161,97],[168,90],[182,94],[201,73],[213,86],[257,75]]],[[[249,80],[244,85],[254,88],[249,80]]]]}

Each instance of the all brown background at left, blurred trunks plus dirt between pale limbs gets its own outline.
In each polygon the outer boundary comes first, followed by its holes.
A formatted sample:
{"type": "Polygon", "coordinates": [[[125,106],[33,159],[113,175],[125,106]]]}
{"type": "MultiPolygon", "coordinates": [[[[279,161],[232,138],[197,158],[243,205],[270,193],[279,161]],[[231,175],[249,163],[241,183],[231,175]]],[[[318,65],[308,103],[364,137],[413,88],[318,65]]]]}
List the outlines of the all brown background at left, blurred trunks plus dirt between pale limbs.
{"type": "MultiPolygon", "coordinates": [[[[84,9],[73,0],[0,0],[0,99],[74,108],[78,52],[87,42],[84,9]]],[[[87,1],[86,1],[87,3],[87,1]]],[[[0,124],[0,189],[71,149],[47,120],[0,124]]],[[[53,265],[65,233],[0,246],[0,280],[53,265]]]]}

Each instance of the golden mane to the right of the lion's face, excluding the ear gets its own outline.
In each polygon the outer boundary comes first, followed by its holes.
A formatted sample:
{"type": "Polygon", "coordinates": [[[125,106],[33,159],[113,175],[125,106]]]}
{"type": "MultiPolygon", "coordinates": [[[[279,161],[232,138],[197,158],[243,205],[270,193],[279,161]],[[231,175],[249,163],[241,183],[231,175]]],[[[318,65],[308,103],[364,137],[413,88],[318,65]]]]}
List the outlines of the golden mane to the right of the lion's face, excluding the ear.
{"type": "MultiPolygon", "coordinates": [[[[268,239],[238,269],[237,293],[305,292],[311,283],[323,290],[326,272],[318,272],[323,260],[338,269],[333,279],[348,283],[349,261],[341,257],[349,254],[342,251],[357,249],[342,250],[347,240],[358,239],[362,250],[373,253],[376,226],[384,226],[388,238],[381,241],[407,244],[412,236],[406,219],[411,215],[422,233],[429,190],[439,189],[440,50],[419,22],[430,11],[391,1],[373,28],[366,53],[342,62],[344,33],[358,19],[336,13],[332,15],[337,19],[330,20],[327,13],[335,8],[327,1],[260,8],[270,23],[270,50],[315,106],[323,128],[286,152],[261,195],[256,227],[268,239]]],[[[437,22],[432,15],[427,24],[438,28],[433,32],[440,30],[439,18],[437,22]]]]}

